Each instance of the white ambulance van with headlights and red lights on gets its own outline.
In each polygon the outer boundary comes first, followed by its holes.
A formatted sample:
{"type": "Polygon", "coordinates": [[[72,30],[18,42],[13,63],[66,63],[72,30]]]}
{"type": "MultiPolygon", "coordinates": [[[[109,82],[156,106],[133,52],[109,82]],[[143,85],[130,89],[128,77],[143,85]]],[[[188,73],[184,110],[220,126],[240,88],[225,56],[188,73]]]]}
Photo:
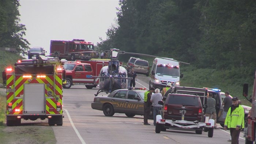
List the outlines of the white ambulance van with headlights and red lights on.
{"type": "Polygon", "coordinates": [[[180,86],[180,65],[179,62],[173,61],[173,58],[155,58],[150,72],[149,88],[163,88],[167,83],[172,86],[180,86]]]}

